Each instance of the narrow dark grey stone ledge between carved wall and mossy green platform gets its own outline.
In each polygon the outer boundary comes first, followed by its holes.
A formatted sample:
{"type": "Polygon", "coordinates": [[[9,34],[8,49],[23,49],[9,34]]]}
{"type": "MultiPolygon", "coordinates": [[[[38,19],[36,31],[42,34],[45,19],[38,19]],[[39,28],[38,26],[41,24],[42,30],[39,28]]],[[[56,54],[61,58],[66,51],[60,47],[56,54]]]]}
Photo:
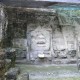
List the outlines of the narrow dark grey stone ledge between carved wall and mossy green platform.
{"type": "MultiPolygon", "coordinates": [[[[80,60],[80,59],[79,59],[80,60]]],[[[30,61],[28,62],[26,59],[21,59],[21,60],[16,60],[16,64],[36,64],[36,65],[39,65],[39,64],[77,64],[77,59],[74,58],[74,59],[53,59],[52,61],[42,61],[42,62],[36,62],[35,60],[34,61],[30,61]]]]}

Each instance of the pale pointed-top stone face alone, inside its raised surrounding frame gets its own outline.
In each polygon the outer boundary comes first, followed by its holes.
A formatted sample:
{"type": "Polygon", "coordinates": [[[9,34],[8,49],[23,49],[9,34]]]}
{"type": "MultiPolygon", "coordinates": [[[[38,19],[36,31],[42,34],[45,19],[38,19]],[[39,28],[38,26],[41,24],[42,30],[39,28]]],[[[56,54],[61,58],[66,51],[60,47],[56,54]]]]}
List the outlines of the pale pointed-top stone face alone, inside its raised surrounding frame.
{"type": "Polygon", "coordinates": [[[40,26],[31,31],[31,50],[50,49],[50,32],[40,26]]]}

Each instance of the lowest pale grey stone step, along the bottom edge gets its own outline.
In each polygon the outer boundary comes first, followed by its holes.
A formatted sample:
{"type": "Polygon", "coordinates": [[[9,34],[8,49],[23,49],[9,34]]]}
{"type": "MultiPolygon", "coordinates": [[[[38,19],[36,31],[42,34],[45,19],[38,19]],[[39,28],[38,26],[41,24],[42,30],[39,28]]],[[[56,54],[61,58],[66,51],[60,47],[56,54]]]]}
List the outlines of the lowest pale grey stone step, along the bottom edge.
{"type": "Polygon", "coordinates": [[[80,77],[79,72],[58,70],[52,72],[30,72],[21,74],[17,80],[48,80],[53,78],[80,77]]]}

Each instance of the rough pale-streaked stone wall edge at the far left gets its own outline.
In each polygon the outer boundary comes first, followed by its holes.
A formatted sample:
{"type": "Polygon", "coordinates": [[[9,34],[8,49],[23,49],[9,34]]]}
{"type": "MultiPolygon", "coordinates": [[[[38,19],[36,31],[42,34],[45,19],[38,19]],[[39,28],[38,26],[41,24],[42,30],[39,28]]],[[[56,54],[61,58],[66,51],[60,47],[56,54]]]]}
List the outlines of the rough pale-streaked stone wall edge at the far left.
{"type": "Polygon", "coordinates": [[[3,39],[4,39],[4,34],[7,28],[7,16],[6,12],[4,10],[4,6],[0,4],[0,47],[3,47],[3,39]]]}

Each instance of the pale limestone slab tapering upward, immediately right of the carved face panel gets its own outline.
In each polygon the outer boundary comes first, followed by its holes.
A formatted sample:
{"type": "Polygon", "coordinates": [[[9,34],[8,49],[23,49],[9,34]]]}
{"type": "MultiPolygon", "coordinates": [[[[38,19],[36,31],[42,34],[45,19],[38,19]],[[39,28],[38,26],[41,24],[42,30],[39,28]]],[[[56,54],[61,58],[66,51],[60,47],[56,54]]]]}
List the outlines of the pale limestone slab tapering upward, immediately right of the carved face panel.
{"type": "Polygon", "coordinates": [[[65,39],[60,28],[56,27],[53,31],[53,49],[62,50],[66,49],[65,39]]]}

